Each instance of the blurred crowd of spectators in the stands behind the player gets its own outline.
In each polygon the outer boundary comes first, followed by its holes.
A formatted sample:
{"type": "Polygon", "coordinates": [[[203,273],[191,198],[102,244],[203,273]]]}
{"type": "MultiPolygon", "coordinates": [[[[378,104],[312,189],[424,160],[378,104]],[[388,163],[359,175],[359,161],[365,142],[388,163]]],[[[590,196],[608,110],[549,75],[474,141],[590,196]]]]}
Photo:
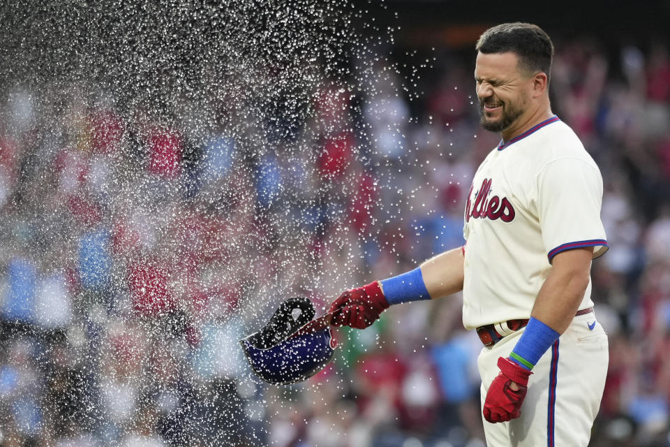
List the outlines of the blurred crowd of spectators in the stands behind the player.
{"type": "MultiPolygon", "coordinates": [[[[556,43],[553,111],[604,179],[593,298],[611,357],[592,444],[667,446],[670,53],[556,43]]],[[[325,76],[304,119],[252,125],[225,102],[198,119],[85,83],[8,88],[0,445],[484,446],[482,346],[458,295],[338,330],[336,360],[295,386],[255,378],[237,342],[285,298],[324,312],[463,244],[499,137],[479,129],[474,53],[443,51],[413,101],[362,61],[362,82],[325,76]]]]}

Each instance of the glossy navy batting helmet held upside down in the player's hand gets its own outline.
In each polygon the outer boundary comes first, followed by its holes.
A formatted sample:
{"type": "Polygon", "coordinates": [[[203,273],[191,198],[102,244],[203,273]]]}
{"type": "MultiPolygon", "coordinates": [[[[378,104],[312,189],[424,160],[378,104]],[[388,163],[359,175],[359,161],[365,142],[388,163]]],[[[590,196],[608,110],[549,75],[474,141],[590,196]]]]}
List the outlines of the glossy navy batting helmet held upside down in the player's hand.
{"type": "Polygon", "coordinates": [[[336,342],[330,332],[331,314],[313,320],[307,298],[285,300],[267,325],[241,339],[251,369],[261,379],[278,385],[304,381],[332,360],[336,342]]]}

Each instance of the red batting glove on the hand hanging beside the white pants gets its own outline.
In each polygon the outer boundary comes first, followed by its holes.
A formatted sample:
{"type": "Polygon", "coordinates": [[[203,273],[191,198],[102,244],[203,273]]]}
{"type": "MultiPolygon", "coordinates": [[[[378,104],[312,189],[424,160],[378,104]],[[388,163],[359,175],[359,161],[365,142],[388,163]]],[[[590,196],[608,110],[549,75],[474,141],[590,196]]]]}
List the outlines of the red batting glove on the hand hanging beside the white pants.
{"type": "Polygon", "coordinates": [[[500,374],[491,382],[484,400],[484,418],[490,423],[506,422],[521,416],[521,404],[528,391],[528,377],[533,374],[509,358],[498,358],[498,367],[500,374]],[[519,386],[519,390],[510,388],[512,382],[519,386]]]}

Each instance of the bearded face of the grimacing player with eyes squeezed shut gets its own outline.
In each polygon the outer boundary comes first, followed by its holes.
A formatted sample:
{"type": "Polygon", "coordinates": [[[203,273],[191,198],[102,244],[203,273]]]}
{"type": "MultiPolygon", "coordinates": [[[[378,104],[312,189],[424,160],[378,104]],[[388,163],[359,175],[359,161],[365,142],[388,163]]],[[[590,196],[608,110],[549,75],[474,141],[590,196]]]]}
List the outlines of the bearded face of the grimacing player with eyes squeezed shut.
{"type": "Polygon", "coordinates": [[[479,98],[479,123],[487,131],[512,126],[528,108],[532,83],[519,71],[519,57],[512,52],[477,53],[475,81],[479,98]]]}

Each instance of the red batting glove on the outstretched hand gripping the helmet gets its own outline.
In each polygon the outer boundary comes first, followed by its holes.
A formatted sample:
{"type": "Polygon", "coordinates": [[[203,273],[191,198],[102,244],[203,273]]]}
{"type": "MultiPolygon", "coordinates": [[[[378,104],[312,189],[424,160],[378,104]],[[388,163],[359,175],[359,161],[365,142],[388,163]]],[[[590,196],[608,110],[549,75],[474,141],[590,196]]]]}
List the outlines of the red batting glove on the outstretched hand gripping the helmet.
{"type": "Polygon", "coordinates": [[[330,306],[334,312],[331,324],[365,329],[389,308],[384,293],[377,281],[366,286],[345,291],[330,306]]]}

